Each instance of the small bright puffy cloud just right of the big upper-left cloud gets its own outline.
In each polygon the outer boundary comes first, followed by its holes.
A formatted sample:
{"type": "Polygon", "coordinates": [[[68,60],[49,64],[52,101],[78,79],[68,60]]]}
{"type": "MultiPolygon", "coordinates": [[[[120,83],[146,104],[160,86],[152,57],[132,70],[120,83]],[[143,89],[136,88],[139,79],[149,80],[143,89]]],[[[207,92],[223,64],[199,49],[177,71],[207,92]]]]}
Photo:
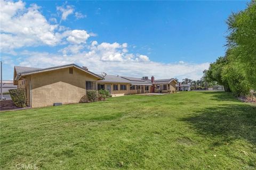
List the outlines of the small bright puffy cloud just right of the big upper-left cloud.
{"type": "Polygon", "coordinates": [[[73,44],[85,43],[90,37],[85,30],[73,30],[67,38],[67,41],[73,44]]]}

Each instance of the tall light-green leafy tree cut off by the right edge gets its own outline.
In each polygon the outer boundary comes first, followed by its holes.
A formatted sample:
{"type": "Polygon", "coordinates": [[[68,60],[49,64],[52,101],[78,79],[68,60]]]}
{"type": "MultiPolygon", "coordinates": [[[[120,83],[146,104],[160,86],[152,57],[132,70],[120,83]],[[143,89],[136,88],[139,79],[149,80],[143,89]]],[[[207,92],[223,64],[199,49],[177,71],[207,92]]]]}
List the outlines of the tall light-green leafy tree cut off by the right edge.
{"type": "Polygon", "coordinates": [[[244,11],[231,14],[227,24],[228,47],[242,64],[249,85],[256,89],[256,3],[252,1],[244,11]]]}

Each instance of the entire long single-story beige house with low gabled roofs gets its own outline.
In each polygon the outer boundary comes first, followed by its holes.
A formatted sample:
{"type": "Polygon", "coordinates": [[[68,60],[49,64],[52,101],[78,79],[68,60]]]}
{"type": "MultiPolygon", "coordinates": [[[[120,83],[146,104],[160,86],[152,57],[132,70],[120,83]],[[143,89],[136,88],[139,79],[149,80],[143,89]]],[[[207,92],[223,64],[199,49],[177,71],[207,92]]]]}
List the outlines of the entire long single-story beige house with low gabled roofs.
{"type": "Polygon", "coordinates": [[[78,103],[86,90],[107,90],[113,96],[138,93],[175,92],[173,79],[97,75],[87,67],[67,64],[49,68],[14,67],[13,84],[26,91],[30,107],[52,106],[53,103],[78,103]]]}

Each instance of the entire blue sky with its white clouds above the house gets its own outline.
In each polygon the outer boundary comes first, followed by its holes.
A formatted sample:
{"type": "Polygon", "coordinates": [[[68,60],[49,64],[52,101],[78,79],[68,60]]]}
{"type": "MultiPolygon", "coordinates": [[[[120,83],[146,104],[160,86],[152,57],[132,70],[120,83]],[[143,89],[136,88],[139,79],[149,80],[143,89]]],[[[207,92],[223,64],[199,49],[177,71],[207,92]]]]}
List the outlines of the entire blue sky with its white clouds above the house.
{"type": "Polygon", "coordinates": [[[198,79],[225,52],[246,1],[1,2],[3,79],[67,63],[124,76],[198,79]]]}

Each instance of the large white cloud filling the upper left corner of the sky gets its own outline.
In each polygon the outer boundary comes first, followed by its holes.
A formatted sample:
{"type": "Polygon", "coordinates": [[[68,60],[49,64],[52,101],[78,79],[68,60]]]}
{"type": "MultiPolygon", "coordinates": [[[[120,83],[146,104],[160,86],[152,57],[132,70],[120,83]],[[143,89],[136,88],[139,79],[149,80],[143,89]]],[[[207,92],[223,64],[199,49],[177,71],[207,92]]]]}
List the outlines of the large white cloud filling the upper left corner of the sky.
{"type": "Polygon", "coordinates": [[[55,45],[60,39],[54,34],[58,25],[50,25],[35,4],[1,1],[1,50],[22,46],[55,45]]]}

